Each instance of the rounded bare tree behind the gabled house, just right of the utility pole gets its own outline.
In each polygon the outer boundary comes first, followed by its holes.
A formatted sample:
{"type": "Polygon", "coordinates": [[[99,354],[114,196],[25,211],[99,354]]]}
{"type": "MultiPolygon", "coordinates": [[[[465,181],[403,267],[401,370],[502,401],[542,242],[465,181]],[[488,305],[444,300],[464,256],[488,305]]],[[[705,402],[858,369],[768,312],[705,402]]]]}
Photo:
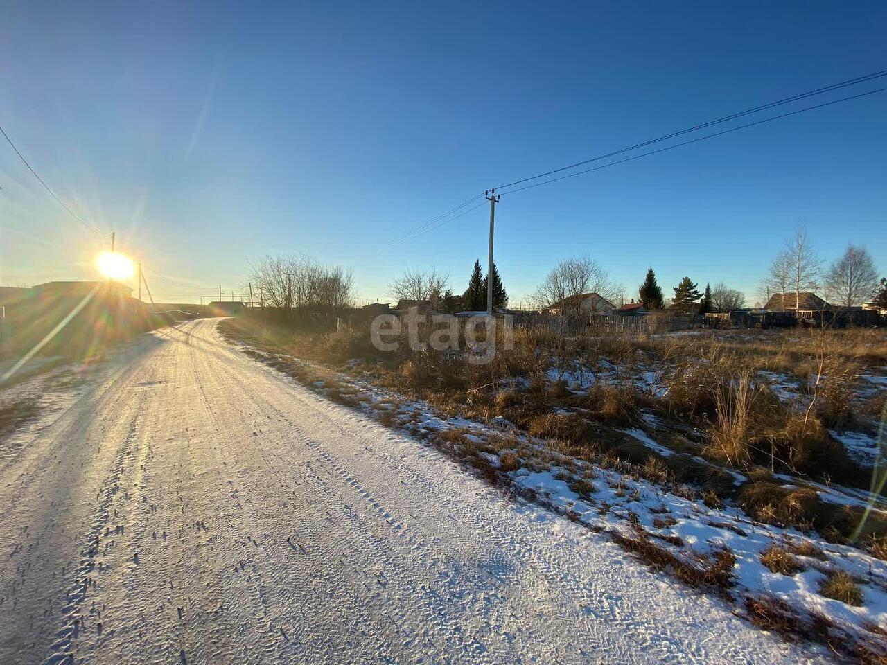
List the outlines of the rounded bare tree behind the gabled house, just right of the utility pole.
{"type": "MultiPolygon", "coordinates": [[[[537,309],[547,309],[583,293],[597,293],[611,302],[616,300],[619,294],[618,286],[610,281],[608,271],[587,256],[564,259],[554,266],[536,293],[532,295],[532,301],[537,309]]],[[[593,301],[591,305],[594,309],[598,303],[593,301]]],[[[582,303],[574,298],[572,301],[567,301],[564,310],[568,316],[577,316],[581,312],[581,307],[582,303]]]]}

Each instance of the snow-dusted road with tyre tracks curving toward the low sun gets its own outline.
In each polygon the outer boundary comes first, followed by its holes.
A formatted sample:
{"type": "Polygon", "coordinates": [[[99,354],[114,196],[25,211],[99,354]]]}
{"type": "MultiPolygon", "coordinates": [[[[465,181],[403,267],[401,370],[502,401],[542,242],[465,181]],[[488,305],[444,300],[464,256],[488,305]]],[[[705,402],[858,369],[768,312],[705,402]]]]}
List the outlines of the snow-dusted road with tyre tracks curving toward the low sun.
{"type": "Polygon", "coordinates": [[[0,662],[801,659],[215,326],[143,336],[0,460],[0,662]]]}

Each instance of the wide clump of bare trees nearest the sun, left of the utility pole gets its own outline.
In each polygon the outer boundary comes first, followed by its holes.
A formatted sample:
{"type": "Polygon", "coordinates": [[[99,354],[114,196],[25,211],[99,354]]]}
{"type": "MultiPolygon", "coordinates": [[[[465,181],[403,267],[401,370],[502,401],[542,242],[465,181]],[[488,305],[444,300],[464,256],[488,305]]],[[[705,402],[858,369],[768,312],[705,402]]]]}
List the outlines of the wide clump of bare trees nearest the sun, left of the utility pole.
{"type": "Polygon", "coordinates": [[[253,265],[249,280],[263,304],[279,308],[345,309],[354,305],[354,276],[310,256],[267,255],[253,265]]]}

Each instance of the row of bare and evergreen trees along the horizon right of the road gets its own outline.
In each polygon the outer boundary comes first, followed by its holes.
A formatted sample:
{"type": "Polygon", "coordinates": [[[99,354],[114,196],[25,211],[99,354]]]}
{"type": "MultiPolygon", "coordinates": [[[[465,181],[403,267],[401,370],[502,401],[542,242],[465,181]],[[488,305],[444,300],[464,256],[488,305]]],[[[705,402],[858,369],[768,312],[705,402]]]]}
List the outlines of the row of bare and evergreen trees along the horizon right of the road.
{"type": "MultiPolygon", "coordinates": [[[[496,263],[492,276],[483,274],[481,262],[475,260],[462,293],[453,293],[449,275],[429,270],[407,269],[389,285],[390,294],[398,301],[428,301],[435,309],[448,312],[485,311],[487,284],[492,279],[493,307],[506,308],[508,294],[496,263]]],[[[354,307],[356,289],[349,269],[326,266],[305,255],[265,256],[251,266],[249,282],[253,300],[278,308],[348,309],[354,307]]],[[[730,312],[746,306],[745,295],[719,282],[699,283],[688,276],[673,286],[673,295],[666,301],[663,289],[649,267],[637,291],[644,309],[670,309],[684,314],[730,312]]],[[[844,254],[826,266],[816,253],[804,229],[785,241],[761,281],[757,295],[765,306],[774,295],[775,309],[795,309],[805,301],[805,293],[816,293],[824,301],[840,307],[853,307],[864,301],[887,309],[887,278],[880,278],[867,249],[848,245],[844,254]]],[[[633,300],[633,299],[632,299],[633,300]]],[[[578,315],[594,312],[610,305],[624,305],[624,289],[617,285],[599,262],[587,256],[571,257],[558,262],[530,295],[534,309],[558,306],[563,313],[578,315]],[[594,294],[597,297],[587,297],[594,294]],[[585,305],[583,301],[587,301],[585,305]]]]}

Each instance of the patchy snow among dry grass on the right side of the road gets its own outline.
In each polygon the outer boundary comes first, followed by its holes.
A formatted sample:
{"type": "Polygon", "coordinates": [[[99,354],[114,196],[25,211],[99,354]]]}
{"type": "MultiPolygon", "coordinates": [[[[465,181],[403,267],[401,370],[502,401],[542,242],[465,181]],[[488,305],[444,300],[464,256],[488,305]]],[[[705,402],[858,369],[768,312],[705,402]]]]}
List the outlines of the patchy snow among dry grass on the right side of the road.
{"type": "MultiPolygon", "coordinates": [[[[816,534],[804,535],[796,529],[757,523],[735,505],[711,507],[700,500],[698,492],[686,486],[670,491],[640,479],[633,472],[619,473],[561,456],[546,442],[516,432],[514,426],[504,419],[493,418],[484,424],[447,418],[436,414],[427,403],[404,399],[365,380],[330,372],[292,356],[250,347],[246,350],[287,372],[301,368],[296,373],[318,393],[334,399],[336,395],[348,395],[349,403],[354,403],[368,415],[375,415],[423,439],[430,438],[468,465],[476,465],[480,458],[483,465],[502,468],[507,456],[514,458],[516,455],[521,462],[520,468],[506,472],[514,488],[530,490],[538,503],[569,515],[593,531],[611,536],[653,538],[658,547],[691,565],[698,564],[700,557],[710,558],[726,548],[735,556],[731,569],[734,577],[731,595],[737,606],[742,607],[744,599],[778,599],[805,622],[825,618],[833,622],[837,634],[855,636],[851,641],[859,638],[868,641],[871,648],[883,649],[877,633],[887,624],[887,564],[883,560],[855,547],[830,544],[816,534]],[[315,380],[317,376],[324,379],[315,380]],[[490,442],[501,440],[503,432],[512,443],[505,448],[498,443],[491,449],[490,442]],[[581,491],[577,487],[581,487],[581,491]],[[766,567],[761,555],[771,546],[793,552],[800,570],[785,575],[766,567]],[[838,571],[849,573],[860,583],[863,597],[860,606],[849,606],[820,594],[820,584],[838,571]]],[[[564,409],[554,411],[570,412],[564,409]]],[[[642,415],[648,426],[646,431],[635,427],[622,430],[622,433],[663,458],[679,454],[655,441],[655,433],[662,425],[660,420],[651,413],[642,415]]],[[[692,459],[696,464],[710,464],[703,458],[692,459]]],[[[737,485],[749,480],[741,473],[726,468],[722,471],[731,473],[737,485]]],[[[860,489],[835,484],[826,486],[779,473],[774,477],[785,488],[812,489],[828,503],[869,507],[882,514],[887,510],[882,499],[873,501],[868,492],[860,489]]],[[[821,629],[816,632],[825,636],[821,629]]],[[[848,641],[847,638],[835,639],[848,641]]]]}

